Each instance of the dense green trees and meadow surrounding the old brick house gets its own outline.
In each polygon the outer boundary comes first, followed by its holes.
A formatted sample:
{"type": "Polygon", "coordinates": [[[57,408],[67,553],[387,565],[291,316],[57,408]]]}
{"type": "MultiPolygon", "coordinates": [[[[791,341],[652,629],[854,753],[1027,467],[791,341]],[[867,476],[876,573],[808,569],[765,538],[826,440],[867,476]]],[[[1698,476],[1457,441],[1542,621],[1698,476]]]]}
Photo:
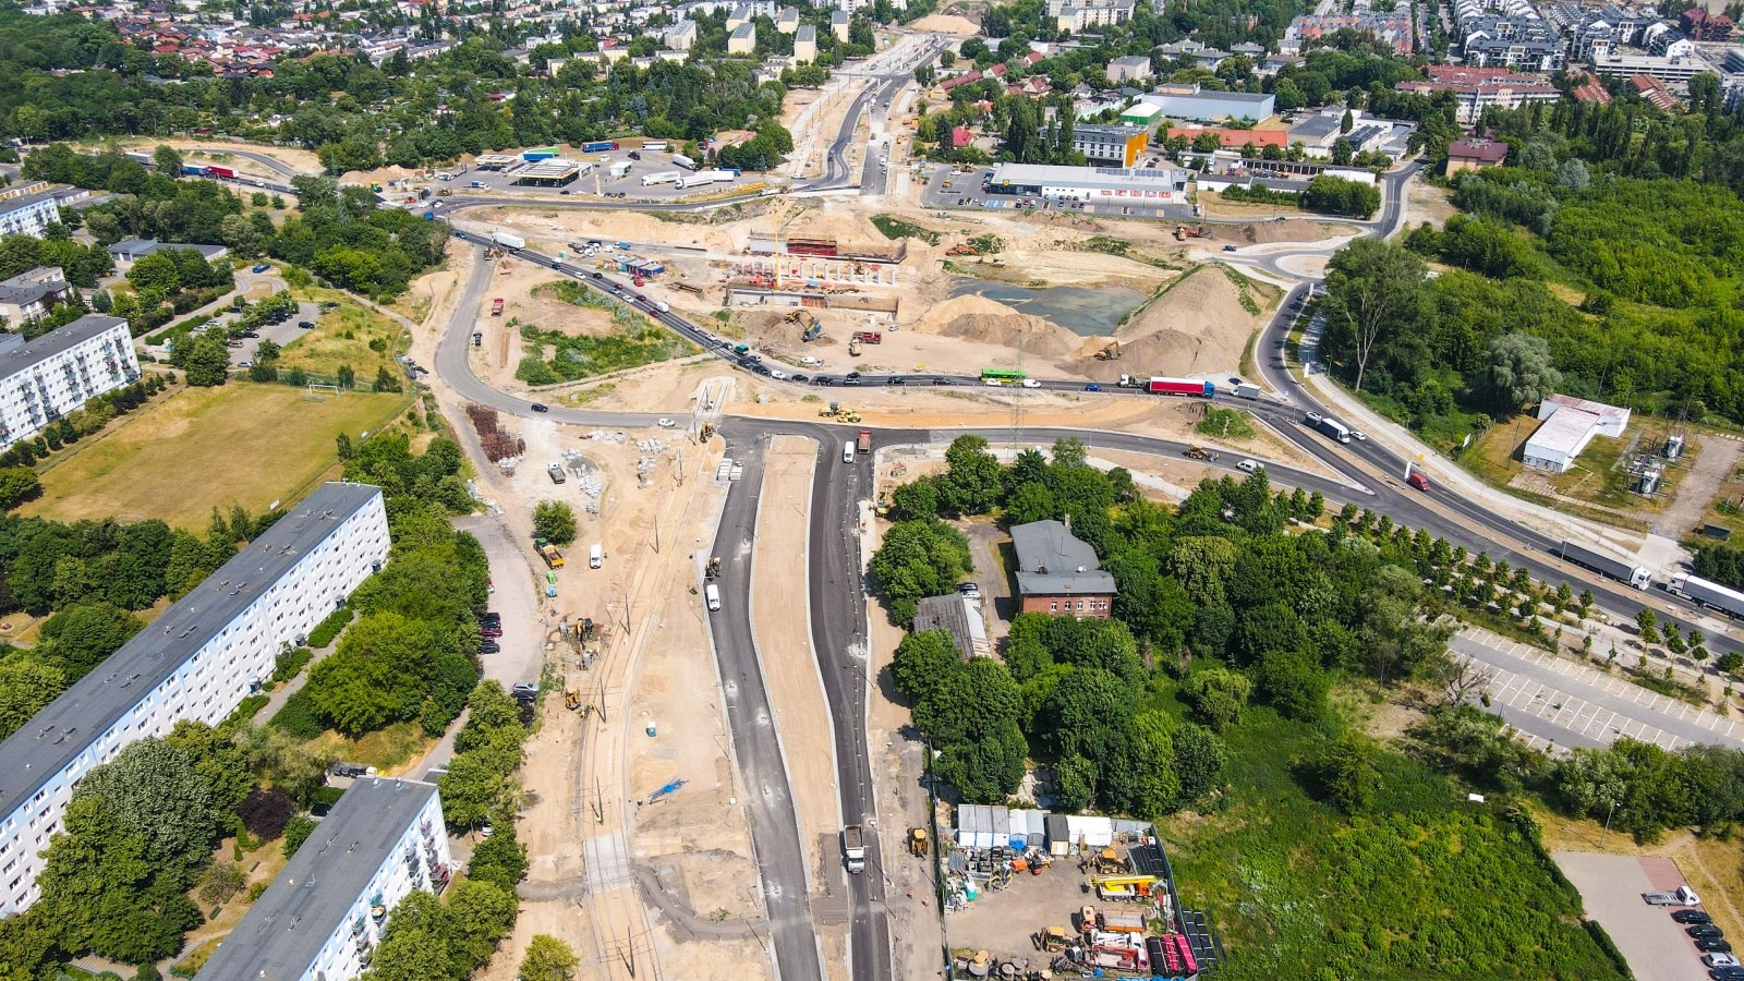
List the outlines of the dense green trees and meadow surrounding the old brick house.
{"type": "Polygon", "coordinates": [[[1550,761],[1516,742],[1472,703],[1451,623],[1531,635],[1591,593],[1385,515],[1329,513],[1263,473],[1205,480],[1172,508],[1073,440],[1006,466],[963,436],[944,473],[893,492],[891,518],[872,574],[903,625],[970,573],[964,520],[1069,518],[1095,548],[1113,620],[1018,614],[999,660],[910,634],[891,683],[942,796],[1005,801],[1043,768],[1059,810],[1156,820],[1182,894],[1240,950],[1231,978],[1625,978],[1580,925],[1533,810],[1591,817],[1624,792],[1613,831],[1643,841],[1744,817],[1734,751],[1620,740],[1550,761]],[[1421,723],[1371,735],[1388,700],[1421,723]]]}

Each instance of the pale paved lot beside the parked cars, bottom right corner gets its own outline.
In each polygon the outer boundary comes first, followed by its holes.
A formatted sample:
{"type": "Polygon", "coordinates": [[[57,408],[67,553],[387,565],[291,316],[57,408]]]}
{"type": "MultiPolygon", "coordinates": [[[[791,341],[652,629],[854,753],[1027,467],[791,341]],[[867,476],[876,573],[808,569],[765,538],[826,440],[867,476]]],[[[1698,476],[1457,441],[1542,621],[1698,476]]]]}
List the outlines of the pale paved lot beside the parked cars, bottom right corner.
{"type": "Polygon", "coordinates": [[[1643,892],[1671,890],[1683,876],[1667,859],[1557,852],[1552,855],[1580,901],[1617,943],[1636,981],[1706,981],[1700,953],[1671,909],[1648,906],[1643,892]],[[1672,882],[1667,882],[1667,873],[1672,882]]]}

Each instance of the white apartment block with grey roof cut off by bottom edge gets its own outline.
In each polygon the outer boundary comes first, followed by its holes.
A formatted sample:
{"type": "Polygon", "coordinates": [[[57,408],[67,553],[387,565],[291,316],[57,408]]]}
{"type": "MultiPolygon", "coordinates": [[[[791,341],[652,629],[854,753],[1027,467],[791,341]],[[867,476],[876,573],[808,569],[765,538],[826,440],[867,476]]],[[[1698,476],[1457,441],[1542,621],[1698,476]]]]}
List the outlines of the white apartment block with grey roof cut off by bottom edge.
{"type": "Polygon", "coordinates": [[[358,780],[195,978],[351,981],[394,906],[439,895],[452,864],[434,784],[358,780]]]}

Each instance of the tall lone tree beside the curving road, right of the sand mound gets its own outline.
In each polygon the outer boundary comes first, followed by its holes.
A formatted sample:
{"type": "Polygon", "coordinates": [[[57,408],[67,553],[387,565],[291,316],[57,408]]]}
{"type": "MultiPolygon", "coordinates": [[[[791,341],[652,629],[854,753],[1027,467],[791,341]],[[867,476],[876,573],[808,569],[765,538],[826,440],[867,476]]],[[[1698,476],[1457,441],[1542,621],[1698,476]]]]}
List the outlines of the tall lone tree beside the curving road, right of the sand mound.
{"type": "Polygon", "coordinates": [[[1411,330],[1423,305],[1423,260],[1381,239],[1357,239],[1332,257],[1327,274],[1327,340],[1355,360],[1353,388],[1376,346],[1392,332],[1411,330]]]}

